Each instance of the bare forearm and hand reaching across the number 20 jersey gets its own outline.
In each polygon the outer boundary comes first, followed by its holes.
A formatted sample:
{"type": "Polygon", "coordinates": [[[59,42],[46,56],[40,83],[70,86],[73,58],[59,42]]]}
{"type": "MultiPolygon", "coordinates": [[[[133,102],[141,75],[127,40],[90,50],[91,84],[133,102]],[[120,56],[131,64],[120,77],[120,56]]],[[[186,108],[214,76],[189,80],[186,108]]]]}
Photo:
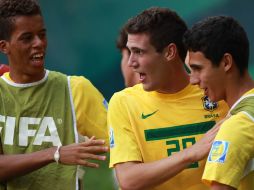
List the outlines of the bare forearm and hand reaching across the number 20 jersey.
{"type": "Polygon", "coordinates": [[[218,129],[219,125],[213,127],[196,144],[168,158],[150,163],[117,164],[115,168],[120,187],[123,190],[148,189],[169,180],[191,163],[207,156],[218,129]]]}

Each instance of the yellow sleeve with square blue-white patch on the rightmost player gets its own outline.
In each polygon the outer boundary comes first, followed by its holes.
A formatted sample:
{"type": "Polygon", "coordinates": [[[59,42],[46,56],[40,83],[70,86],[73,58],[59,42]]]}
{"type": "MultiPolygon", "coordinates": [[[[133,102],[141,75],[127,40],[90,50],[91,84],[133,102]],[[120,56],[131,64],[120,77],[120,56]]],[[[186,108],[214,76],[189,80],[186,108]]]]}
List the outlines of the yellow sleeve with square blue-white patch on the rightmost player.
{"type": "Polygon", "coordinates": [[[237,188],[245,166],[254,156],[254,122],[244,112],[226,120],[213,142],[205,170],[204,183],[216,181],[237,188]]]}

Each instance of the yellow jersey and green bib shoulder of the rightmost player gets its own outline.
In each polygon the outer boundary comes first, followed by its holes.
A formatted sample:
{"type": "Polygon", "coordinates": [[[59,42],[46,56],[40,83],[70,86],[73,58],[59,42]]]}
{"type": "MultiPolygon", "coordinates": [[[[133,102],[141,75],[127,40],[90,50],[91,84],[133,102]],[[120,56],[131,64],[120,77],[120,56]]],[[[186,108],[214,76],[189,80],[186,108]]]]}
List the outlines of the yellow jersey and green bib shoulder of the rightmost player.
{"type": "Polygon", "coordinates": [[[203,180],[251,190],[254,189],[254,89],[232,106],[230,115],[214,140],[203,180]]]}

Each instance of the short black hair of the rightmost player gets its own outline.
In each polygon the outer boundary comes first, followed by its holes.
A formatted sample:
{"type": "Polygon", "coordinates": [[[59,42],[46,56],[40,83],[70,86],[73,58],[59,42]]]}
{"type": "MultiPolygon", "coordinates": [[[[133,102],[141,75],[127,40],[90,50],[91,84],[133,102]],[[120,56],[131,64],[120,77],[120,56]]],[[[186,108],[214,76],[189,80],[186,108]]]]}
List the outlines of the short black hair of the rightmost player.
{"type": "Polygon", "coordinates": [[[188,50],[202,52],[214,66],[219,66],[223,55],[229,53],[240,74],[248,69],[249,40],[244,28],[232,17],[208,17],[194,24],[183,41],[188,50]]]}

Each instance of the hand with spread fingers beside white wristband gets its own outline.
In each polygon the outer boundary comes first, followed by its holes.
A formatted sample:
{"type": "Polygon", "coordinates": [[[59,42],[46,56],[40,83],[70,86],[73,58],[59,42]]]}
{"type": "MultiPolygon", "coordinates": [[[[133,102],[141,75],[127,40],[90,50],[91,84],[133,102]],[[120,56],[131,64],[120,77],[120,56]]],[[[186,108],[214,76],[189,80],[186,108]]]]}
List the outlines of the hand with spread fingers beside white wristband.
{"type": "Polygon", "coordinates": [[[105,160],[106,156],[99,155],[108,152],[109,148],[104,146],[105,140],[95,140],[94,137],[86,142],[62,146],[59,150],[61,164],[82,165],[98,168],[97,163],[89,160],[105,160]]]}

